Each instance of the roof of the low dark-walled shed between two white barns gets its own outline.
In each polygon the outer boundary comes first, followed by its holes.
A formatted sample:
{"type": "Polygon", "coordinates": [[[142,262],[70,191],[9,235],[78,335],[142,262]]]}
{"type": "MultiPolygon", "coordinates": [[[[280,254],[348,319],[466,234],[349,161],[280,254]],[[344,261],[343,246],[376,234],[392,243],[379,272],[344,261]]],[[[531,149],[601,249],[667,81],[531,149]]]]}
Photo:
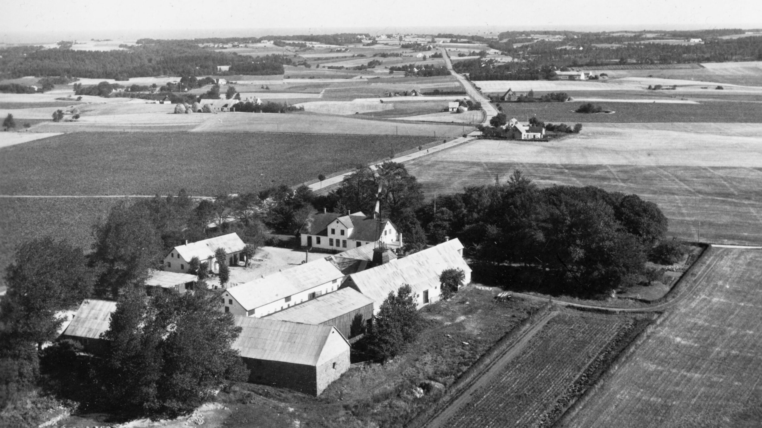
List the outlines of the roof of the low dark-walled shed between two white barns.
{"type": "Polygon", "coordinates": [[[341,315],[348,314],[351,311],[357,311],[357,309],[364,308],[367,305],[373,305],[373,299],[370,299],[367,295],[360,294],[355,289],[346,288],[329,292],[283,311],[267,315],[265,318],[303,322],[306,324],[321,324],[325,321],[341,317],[341,315]]]}

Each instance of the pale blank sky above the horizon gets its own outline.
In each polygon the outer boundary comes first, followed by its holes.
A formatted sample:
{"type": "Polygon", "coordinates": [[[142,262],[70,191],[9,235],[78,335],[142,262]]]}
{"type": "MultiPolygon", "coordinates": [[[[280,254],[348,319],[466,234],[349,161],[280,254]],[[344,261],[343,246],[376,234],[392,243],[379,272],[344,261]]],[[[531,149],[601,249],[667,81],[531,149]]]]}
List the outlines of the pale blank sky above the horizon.
{"type": "MultiPolygon", "coordinates": [[[[759,0],[16,0],[4,2],[0,40],[12,34],[156,34],[337,28],[687,29],[762,27],[759,0]],[[720,7],[732,5],[732,7],[720,7]],[[236,31],[233,31],[236,30],[236,31]]],[[[258,32],[258,31],[257,31],[258,32]]],[[[231,36],[234,34],[230,34],[231,36]]],[[[252,34],[256,35],[256,34],[252,34]]],[[[264,34],[262,34],[264,35],[264,34]]],[[[114,36],[117,37],[117,36],[114,36]]],[[[146,35],[146,37],[150,37],[146,35]]]]}

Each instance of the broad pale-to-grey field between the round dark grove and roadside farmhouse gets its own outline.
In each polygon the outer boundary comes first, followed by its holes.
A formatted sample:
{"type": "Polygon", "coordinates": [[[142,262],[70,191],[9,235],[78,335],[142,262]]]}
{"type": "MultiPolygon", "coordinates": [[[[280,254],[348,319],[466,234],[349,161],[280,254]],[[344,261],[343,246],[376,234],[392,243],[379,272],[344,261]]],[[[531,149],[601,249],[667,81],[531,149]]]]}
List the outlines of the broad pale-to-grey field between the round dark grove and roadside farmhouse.
{"type": "Polygon", "coordinates": [[[669,234],[762,243],[762,129],[756,124],[586,124],[552,142],[476,140],[407,164],[427,196],[507,180],[598,186],[658,203],[669,234]],[[697,127],[694,127],[697,126],[697,127]],[[671,130],[675,129],[675,130],[671,130]],[[699,225],[700,222],[700,225],[699,225]]]}

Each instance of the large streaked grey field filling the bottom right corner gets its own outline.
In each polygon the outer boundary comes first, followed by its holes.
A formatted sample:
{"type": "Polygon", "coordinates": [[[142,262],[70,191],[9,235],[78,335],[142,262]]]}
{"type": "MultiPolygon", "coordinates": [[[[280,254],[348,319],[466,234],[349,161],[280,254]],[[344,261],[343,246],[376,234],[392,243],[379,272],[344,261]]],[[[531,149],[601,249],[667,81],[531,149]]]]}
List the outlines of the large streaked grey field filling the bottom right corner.
{"type": "Polygon", "coordinates": [[[762,251],[711,248],[687,279],[696,295],[561,426],[762,425],[762,251]]]}

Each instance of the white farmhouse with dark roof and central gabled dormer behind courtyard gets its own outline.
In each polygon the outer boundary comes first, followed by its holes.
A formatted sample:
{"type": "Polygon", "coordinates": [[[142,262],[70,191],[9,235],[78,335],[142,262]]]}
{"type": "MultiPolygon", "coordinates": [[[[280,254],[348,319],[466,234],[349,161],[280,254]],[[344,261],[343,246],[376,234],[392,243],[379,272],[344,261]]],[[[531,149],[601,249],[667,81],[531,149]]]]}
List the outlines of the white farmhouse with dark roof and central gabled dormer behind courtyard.
{"type": "Polygon", "coordinates": [[[358,211],[347,216],[335,212],[313,212],[299,231],[303,247],[341,251],[382,241],[402,247],[402,233],[389,220],[377,220],[358,211]]]}

